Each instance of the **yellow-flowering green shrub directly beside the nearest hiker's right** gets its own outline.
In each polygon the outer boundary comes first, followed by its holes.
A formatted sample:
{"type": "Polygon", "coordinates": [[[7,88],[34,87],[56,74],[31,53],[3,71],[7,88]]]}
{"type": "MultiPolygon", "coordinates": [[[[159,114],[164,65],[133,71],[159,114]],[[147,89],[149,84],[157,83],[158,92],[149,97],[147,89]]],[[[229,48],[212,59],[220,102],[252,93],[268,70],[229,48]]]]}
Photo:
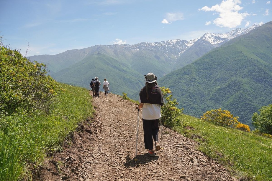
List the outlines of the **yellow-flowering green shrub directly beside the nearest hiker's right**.
{"type": "Polygon", "coordinates": [[[180,124],[180,119],[177,119],[181,115],[183,108],[179,109],[177,99],[173,99],[172,92],[169,88],[161,87],[163,93],[163,106],[161,107],[161,120],[164,126],[173,128],[180,124]]]}

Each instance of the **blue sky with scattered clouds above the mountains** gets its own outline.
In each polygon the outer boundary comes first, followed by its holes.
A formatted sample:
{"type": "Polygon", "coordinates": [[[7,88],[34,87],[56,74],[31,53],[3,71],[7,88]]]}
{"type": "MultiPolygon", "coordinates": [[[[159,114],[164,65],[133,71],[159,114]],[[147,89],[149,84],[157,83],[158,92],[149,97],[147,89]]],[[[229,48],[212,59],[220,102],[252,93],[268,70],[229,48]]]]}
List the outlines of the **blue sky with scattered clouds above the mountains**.
{"type": "Polygon", "coordinates": [[[23,55],[191,40],[272,21],[270,0],[1,0],[0,36],[23,55]],[[28,47],[28,50],[27,50],[28,47]]]}

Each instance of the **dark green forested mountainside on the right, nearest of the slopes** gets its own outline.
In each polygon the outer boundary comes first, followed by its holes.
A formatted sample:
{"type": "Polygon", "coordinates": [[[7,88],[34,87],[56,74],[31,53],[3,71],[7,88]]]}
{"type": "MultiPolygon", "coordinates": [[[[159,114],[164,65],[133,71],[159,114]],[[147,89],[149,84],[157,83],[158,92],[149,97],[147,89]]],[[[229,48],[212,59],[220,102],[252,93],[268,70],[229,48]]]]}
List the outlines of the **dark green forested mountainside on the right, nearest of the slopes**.
{"type": "Polygon", "coordinates": [[[185,114],[226,109],[252,127],[251,117],[272,102],[272,22],[228,41],[159,80],[185,114]]]}

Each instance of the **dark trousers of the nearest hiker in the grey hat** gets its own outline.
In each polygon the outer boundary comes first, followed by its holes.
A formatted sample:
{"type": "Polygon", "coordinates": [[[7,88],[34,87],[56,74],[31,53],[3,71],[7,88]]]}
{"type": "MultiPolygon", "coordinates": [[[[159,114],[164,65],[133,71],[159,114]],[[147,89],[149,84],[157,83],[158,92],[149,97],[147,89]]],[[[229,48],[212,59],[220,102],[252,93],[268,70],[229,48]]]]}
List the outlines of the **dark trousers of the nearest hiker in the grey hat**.
{"type": "Polygon", "coordinates": [[[153,149],[153,139],[158,141],[159,119],[142,119],[145,149],[153,149]]]}

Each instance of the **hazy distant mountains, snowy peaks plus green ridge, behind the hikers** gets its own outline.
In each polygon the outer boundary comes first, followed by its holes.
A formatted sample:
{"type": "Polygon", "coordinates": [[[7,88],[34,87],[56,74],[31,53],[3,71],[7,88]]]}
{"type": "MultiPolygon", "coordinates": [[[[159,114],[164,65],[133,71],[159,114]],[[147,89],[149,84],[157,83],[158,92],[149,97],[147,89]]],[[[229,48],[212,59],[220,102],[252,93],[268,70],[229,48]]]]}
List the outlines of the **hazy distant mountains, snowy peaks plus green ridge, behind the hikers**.
{"type": "Polygon", "coordinates": [[[96,45],[57,55],[27,58],[47,64],[49,75],[59,82],[88,88],[90,80],[97,76],[100,80],[106,78],[112,82],[111,88],[115,94],[127,92],[129,97],[136,99],[137,91],[144,85],[144,82],[139,83],[137,80],[148,72],[155,72],[158,78],[163,77],[258,26],[260,25],[222,34],[206,33],[189,41],[177,39],[135,45],[96,45]]]}

